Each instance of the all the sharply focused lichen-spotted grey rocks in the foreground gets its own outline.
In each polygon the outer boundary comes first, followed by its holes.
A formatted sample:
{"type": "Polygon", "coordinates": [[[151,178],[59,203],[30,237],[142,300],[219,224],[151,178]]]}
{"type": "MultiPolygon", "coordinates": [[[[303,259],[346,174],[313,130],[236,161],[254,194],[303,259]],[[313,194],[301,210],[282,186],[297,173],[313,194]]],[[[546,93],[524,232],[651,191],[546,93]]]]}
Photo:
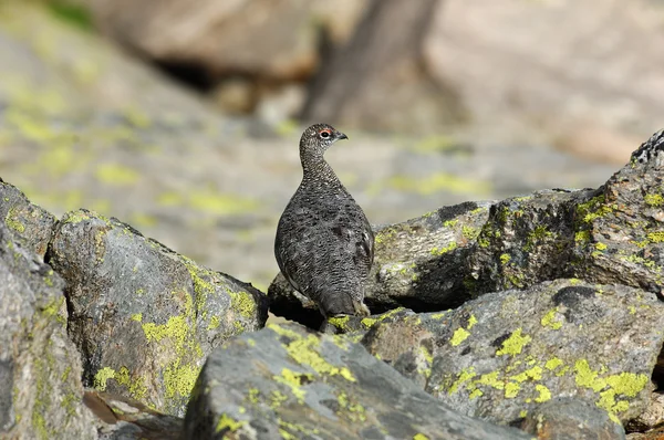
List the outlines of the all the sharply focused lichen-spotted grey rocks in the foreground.
{"type": "Polygon", "coordinates": [[[658,438],[663,150],[660,132],[598,189],[377,230],[375,314],[331,334],[280,276],[266,295],[0,182],[2,434],[658,438]]]}

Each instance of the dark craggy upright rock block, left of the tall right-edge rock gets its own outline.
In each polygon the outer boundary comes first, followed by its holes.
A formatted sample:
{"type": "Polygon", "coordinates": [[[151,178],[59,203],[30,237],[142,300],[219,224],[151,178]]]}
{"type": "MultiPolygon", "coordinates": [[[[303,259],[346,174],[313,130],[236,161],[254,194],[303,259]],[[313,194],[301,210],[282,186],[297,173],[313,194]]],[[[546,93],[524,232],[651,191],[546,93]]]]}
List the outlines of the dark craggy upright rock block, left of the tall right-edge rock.
{"type": "Polygon", "coordinates": [[[475,295],[564,277],[577,244],[578,207],[596,193],[543,190],[491,206],[461,269],[475,295]]]}

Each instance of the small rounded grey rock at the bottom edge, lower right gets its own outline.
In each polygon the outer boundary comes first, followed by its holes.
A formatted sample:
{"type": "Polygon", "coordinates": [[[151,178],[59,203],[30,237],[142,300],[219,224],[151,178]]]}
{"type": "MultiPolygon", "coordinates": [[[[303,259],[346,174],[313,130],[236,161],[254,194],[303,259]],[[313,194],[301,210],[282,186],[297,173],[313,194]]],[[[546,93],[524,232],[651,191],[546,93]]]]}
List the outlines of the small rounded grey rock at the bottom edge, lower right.
{"type": "Polygon", "coordinates": [[[556,398],[528,415],[521,429],[541,440],[624,440],[625,430],[606,411],[583,400],[556,398]]]}

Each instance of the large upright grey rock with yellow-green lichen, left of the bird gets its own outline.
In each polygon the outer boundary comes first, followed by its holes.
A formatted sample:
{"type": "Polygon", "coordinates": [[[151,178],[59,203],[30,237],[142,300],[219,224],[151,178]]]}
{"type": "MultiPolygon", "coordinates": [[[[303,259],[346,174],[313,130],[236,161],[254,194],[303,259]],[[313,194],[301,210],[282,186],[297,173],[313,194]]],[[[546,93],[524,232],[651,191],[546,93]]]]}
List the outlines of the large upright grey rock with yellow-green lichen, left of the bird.
{"type": "Polygon", "coordinates": [[[264,294],[86,210],[56,224],[48,258],[68,282],[84,384],[183,415],[205,357],[261,328],[264,294]]]}

